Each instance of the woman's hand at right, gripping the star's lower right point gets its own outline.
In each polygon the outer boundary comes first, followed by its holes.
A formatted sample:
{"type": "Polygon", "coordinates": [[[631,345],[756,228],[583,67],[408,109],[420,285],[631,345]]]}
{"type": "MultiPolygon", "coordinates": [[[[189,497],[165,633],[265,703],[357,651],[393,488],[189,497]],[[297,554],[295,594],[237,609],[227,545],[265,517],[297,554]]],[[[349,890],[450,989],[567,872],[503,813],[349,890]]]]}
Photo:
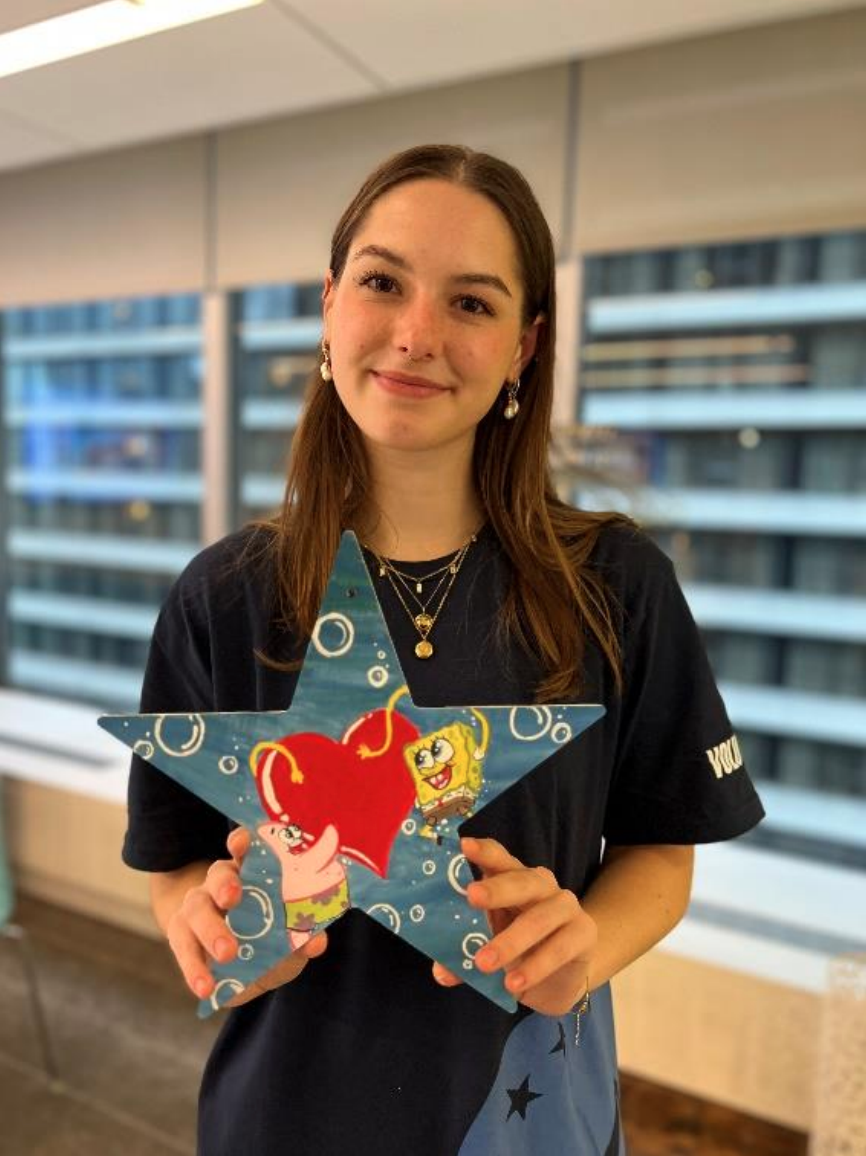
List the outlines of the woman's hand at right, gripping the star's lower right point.
{"type": "MultiPolygon", "coordinates": [[[[586,993],[598,931],[573,891],[547,867],[525,867],[495,839],[461,839],[462,853],[481,869],[466,898],[487,913],[493,939],[475,954],[479,971],[505,972],[515,999],[545,1015],[565,1015],[586,993]]],[[[462,983],[441,963],[434,978],[462,983]]]]}

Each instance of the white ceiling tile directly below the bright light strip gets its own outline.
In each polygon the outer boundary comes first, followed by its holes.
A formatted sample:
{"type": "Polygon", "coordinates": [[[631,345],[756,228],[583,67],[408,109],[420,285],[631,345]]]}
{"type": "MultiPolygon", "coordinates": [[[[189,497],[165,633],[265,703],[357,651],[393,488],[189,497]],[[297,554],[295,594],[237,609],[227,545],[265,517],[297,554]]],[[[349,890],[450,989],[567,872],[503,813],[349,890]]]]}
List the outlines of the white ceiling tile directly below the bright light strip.
{"type": "Polygon", "coordinates": [[[265,5],[8,76],[0,110],[102,149],[375,92],[319,37],[265,5]]]}

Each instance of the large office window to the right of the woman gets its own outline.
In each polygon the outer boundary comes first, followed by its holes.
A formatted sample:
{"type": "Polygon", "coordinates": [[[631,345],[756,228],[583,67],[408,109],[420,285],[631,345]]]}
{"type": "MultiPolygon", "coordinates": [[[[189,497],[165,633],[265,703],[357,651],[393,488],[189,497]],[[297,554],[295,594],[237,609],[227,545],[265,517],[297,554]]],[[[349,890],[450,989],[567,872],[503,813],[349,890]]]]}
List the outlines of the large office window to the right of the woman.
{"type": "Polygon", "coordinates": [[[622,503],[819,839],[822,798],[866,800],[866,234],[598,255],[584,286],[578,417],[619,447],[608,484],[631,447],[622,503]]]}

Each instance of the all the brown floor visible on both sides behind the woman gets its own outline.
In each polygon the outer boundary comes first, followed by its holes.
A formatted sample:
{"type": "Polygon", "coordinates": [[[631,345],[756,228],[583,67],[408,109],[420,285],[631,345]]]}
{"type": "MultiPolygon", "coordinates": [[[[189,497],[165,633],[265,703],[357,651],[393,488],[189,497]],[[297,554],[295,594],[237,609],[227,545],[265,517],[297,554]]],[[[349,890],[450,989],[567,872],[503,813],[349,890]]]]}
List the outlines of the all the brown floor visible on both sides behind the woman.
{"type": "MultiPolygon", "coordinates": [[[[15,919],[24,939],[0,936],[0,1153],[192,1156],[217,1024],[197,1020],[166,949],[32,899],[15,919]],[[59,1079],[39,1048],[29,964],[59,1079]]],[[[629,1156],[806,1156],[798,1133],[624,1075],[622,1089],[629,1156]]]]}

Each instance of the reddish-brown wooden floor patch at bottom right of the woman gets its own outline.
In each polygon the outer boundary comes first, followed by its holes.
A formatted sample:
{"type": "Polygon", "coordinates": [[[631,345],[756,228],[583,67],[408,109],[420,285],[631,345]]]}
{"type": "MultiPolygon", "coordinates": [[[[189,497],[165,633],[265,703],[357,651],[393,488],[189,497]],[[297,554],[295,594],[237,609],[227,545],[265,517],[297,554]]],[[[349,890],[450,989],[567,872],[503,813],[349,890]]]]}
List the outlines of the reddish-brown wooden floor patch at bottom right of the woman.
{"type": "Polygon", "coordinates": [[[628,1156],[806,1156],[799,1132],[632,1076],[621,1088],[628,1156]]]}

